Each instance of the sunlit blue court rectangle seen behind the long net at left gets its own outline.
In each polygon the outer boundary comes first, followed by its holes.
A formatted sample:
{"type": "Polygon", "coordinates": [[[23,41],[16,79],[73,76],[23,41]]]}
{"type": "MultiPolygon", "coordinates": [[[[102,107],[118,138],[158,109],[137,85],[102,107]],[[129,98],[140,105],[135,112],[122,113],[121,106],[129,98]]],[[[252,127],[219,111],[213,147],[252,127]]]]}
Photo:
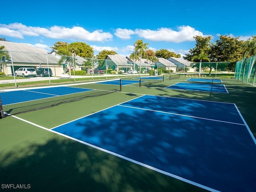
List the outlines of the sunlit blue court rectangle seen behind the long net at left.
{"type": "Polygon", "coordinates": [[[91,89],[59,86],[51,88],[37,88],[28,90],[0,92],[0,97],[2,99],[2,105],[8,105],[85,91],[91,91],[91,89]]]}

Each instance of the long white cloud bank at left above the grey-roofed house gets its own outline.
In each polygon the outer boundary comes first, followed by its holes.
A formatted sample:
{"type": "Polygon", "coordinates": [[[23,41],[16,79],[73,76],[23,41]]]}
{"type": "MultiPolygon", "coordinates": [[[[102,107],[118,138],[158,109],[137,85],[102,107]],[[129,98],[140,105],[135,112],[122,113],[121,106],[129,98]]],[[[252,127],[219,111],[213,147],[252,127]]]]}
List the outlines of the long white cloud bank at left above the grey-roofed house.
{"type": "Polygon", "coordinates": [[[0,34],[4,36],[24,38],[24,36],[45,36],[53,39],[85,40],[94,42],[110,41],[113,35],[102,30],[89,32],[82,27],[66,28],[53,26],[50,28],[25,26],[21,23],[0,24],[0,34]]]}

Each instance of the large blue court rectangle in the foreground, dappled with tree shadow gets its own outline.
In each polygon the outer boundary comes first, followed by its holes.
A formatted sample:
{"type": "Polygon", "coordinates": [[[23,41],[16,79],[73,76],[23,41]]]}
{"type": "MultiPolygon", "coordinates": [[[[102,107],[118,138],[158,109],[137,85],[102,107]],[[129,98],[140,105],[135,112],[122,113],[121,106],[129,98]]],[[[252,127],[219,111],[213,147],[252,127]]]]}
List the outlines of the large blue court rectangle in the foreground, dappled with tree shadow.
{"type": "Polygon", "coordinates": [[[210,191],[256,191],[256,140],[235,104],[144,95],[52,128],[210,191]]]}

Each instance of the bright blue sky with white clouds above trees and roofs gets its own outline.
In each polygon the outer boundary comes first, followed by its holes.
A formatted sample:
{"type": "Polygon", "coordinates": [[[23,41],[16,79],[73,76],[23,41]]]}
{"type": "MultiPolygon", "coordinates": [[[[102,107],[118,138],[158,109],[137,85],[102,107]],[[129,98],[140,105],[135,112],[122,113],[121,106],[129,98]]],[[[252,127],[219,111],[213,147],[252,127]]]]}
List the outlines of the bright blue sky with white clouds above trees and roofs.
{"type": "Polygon", "coordinates": [[[0,37],[51,50],[57,41],[85,42],[94,49],[129,56],[142,39],[150,49],[182,56],[194,48],[193,36],[256,35],[255,0],[129,0],[1,2],[0,37]]]}

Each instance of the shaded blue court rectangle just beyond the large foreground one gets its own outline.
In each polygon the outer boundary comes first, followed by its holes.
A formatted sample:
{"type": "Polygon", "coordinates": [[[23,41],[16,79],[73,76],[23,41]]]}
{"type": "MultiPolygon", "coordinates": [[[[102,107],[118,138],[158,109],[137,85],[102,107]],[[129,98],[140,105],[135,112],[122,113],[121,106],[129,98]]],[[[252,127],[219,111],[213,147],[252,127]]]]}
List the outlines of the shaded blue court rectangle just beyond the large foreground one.
{"type": "Polygon", "coordinates": [[[221,84],[200,84],[200,83],[176,83],[166,87],[167,89],[190,90],[190,91],[206,91],[228,93],[228,90],[221,84]]]}

